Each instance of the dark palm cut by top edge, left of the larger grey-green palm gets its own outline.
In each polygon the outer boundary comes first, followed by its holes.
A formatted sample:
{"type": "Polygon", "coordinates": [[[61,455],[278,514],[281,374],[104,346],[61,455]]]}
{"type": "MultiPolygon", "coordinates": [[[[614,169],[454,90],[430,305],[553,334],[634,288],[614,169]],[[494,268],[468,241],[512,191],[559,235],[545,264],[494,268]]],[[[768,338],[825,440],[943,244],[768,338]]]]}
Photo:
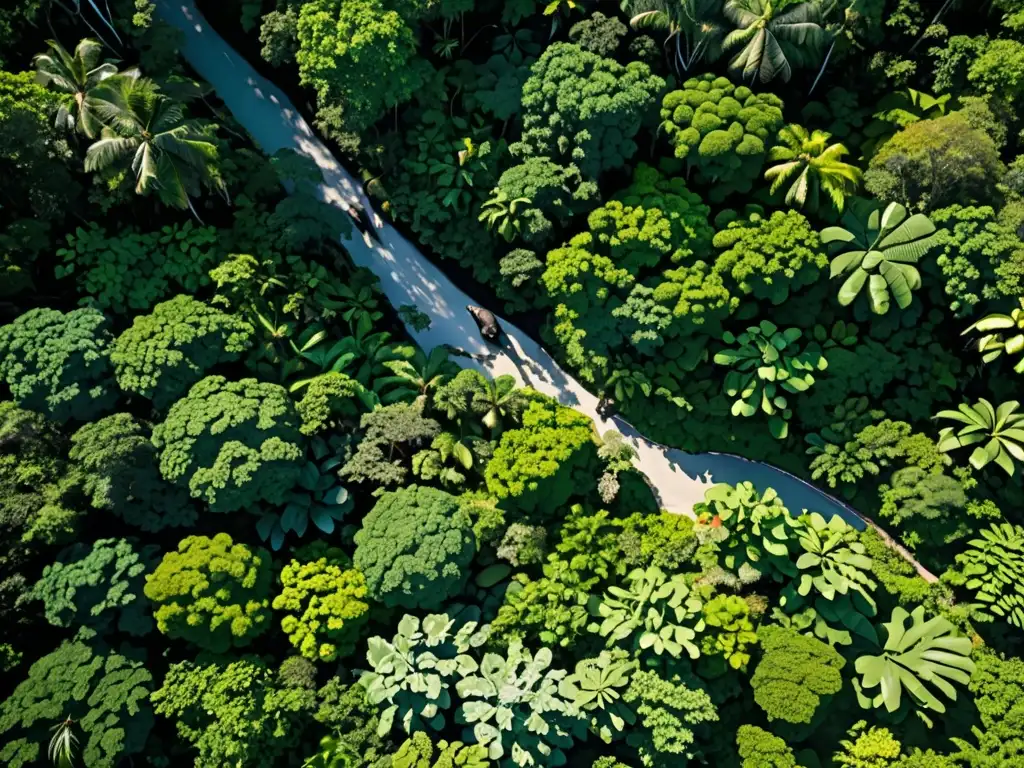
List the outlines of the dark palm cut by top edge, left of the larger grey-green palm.
{"type": "Polygon", "coordinates": [[[629,0],[635,30],[668,32],[666,45],[675,42],[673,60],[683,70],[701,59],[714,60],[721,53],[724,30],[719,24],[721,0],[629,0]]]}

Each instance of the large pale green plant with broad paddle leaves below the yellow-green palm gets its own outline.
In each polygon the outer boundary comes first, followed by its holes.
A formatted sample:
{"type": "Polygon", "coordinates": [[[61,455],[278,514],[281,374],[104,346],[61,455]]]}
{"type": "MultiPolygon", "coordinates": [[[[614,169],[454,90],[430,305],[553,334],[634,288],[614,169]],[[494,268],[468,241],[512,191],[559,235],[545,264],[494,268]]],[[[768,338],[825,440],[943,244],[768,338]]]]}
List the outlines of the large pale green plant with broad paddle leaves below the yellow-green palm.
{"type": "Polygon", "coordinates": [[[831,276],[848,274],[839,292],[839,303],[853,302],[867,284],[871,311],[885,314],[890,298],[901,309],[910,305],[921,288],[921,272],[913,266],[935,245],[935,225],[922,213],[907,218],[906,209],[890,203],[884,212],[868,201],[854,201],[843,216],[843,226],[821,231],[822,243],[853,245],[857,250],[831,260],[831,276]]]}

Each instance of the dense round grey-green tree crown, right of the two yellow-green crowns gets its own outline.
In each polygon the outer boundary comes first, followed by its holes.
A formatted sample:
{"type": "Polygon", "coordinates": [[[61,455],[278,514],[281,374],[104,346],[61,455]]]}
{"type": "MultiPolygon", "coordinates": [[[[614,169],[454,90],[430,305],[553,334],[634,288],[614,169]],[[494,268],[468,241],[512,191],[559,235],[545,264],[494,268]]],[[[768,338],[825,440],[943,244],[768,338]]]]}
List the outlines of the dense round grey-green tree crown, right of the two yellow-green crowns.
{"type": "Polygon", "coordinates": [[[454,496],[410,485],[384,494],[364,518],[353,562],[375,600],[429,610],[462,588],[475,549],[469,513],[454,496]]]}

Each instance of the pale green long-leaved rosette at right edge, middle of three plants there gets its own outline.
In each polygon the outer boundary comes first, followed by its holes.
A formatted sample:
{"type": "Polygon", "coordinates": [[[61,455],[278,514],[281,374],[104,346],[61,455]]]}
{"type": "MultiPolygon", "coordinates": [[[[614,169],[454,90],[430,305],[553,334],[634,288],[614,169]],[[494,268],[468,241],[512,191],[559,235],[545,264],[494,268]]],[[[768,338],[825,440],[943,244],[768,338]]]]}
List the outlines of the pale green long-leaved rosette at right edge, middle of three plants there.
{"type": "Polygon", "coordinates": [[[982,397],[974,406],[964,402],[956,411],[940,411],[936,419],[949,419],[964,426],[958,430],[944,427],[939,432],[939,451],[977,445],[971,454],[972,467],[981,469],[995,462],[1008,475],[1013,475],[1014,460],[1024,461],[1024,413],[1018,413],[1019,408],[1017,400],[992,408],[982,397]],[[985,444],[978,444],[981,442],[985,444]]]}

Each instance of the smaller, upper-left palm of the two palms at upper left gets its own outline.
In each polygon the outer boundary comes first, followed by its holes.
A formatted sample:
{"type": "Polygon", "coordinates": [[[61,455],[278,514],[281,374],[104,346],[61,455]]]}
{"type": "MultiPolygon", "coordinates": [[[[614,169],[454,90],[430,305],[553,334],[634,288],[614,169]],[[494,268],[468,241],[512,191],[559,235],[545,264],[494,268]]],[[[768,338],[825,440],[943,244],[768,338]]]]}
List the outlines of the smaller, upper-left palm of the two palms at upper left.
{"type": "Polygon", "coordinates": [[[93,110],[91,93],[97,85],[118,68],[109,61],[99,62],[103,46],[98,40],[85,38],[75,46],[75,53],[55,40],[47,40],[48,53],[40,53],[32,59],[39,78],[54,90],[74,97],[72,109],[62,105],[57,110],[57,127],[66,130],[78,129],[93,138],[100,128],[100,122],[93,110]]]}

